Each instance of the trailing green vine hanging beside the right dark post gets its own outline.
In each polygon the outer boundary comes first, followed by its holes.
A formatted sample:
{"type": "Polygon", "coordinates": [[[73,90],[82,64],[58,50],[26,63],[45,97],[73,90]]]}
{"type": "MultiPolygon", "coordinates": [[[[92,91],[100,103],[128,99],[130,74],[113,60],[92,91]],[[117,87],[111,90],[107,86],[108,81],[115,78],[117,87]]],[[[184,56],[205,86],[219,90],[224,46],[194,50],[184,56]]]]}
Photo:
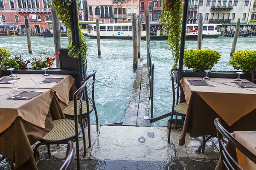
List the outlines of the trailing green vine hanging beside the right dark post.
{"type": "Polygon", "coordinates": [[[167,6],[167,2],[170,4],[169,0],[162,0],[163,6],[161,9],[162,17],[160,19],[160,23],[162,24],[162,29],[166,32],[166,37],[168,38],[168,49],[172,52],[172,57],[174,59],[173,68],[177,68],[180,57],[183,3],[181,0],[175,0],[175,3],[172,2],[170,6],[167,6]],[[172,5],[175,8],[171,8],[172,5]]]}

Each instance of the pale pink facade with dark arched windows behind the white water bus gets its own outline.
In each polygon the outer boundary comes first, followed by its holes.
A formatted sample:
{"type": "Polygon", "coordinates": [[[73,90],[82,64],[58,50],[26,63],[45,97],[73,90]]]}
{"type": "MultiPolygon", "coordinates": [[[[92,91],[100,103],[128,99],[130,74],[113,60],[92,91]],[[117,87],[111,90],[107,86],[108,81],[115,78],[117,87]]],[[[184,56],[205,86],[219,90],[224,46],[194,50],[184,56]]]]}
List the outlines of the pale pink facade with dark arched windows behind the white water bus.
{"type": "Polygon", "coordinates": [[[87,0],[88,18],[102,23],[131,21],[131,14],[140,14],[140,0],[87,0]]]}

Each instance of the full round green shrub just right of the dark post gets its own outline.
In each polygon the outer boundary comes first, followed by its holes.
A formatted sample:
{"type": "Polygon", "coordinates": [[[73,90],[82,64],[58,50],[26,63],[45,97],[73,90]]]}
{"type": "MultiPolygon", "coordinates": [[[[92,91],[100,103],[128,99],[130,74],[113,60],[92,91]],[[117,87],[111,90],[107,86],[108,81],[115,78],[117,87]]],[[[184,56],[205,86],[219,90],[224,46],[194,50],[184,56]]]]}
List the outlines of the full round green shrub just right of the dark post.
{"type": "Polygon", "coordinates": [[[211,70],[214,64],[218,63],[221,54],[218,51],[204,49],[204,50],[185,50],[184,51],[184,65],[187,68],[193,68],[193,71],[211,70]]]}

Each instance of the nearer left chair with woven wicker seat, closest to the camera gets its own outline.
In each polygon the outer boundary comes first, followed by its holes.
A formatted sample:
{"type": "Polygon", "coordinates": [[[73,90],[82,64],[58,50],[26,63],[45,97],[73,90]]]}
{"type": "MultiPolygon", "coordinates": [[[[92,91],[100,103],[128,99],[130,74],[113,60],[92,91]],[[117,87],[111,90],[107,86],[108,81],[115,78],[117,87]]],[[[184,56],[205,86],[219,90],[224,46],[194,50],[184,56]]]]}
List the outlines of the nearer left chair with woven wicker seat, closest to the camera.
{"type": "MultiPolygon", "coordinates": [[[[76,158],[77,158],[77,169],[80,169],[80,161],[79,161],[79,135],[83,134],[83,144],[84,144],[84,156],[86,154],[86,141],[85,141],[85,132],[84,132],[84,125],[82,121],[82,109],[83,105],[87,105],[89,108],[89,100],[87,95],[87,82],[85,81],[84,84],[73,94],[74,97],[74,105],[73,105],[73,117],[74,120],[71,119],[58,119],[53,121],[53,129],[44,136],[39,144],[35,146],[34,149],[34,156],[36,158],[37,149],[39,146],[45,144],[48,147],[48,154],[51,156],[50,153],[50,144],[67,144],[68,141],[76,141],[76,158]],[[85,94],[85,102],[82,102],[84,99],[85,94]],[[78,113],[80,117],[80,123],[78,122],[78,113]]],[[[89,112],[89,109],[87,109],[89,112]]]]}

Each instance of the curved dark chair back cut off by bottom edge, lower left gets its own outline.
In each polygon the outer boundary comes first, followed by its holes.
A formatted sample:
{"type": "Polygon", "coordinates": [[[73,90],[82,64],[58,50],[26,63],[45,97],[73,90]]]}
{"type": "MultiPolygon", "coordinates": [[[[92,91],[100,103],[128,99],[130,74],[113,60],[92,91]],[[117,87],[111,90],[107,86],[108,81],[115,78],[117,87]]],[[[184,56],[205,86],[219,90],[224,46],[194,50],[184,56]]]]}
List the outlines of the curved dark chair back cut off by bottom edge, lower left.
{"type": "Polygon", "coordinates": [[[67,142],[67,153],[64,164],[62,164],[60,170],[68,170],[76,156],[76,145],[74,142],[67,142]]]}

